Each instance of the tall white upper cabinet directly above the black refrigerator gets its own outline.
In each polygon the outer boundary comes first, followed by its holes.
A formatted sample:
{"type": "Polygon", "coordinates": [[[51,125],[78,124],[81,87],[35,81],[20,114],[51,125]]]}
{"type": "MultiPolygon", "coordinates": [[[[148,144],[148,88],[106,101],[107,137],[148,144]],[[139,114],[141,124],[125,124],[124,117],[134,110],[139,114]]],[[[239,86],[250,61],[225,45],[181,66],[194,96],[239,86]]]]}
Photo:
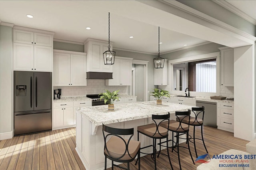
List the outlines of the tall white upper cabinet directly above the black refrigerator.
{"type": "Polygon", "coordinates": [[[53,34],[53,32],[15,26],[13,69],[52,72],[53,34]]]}

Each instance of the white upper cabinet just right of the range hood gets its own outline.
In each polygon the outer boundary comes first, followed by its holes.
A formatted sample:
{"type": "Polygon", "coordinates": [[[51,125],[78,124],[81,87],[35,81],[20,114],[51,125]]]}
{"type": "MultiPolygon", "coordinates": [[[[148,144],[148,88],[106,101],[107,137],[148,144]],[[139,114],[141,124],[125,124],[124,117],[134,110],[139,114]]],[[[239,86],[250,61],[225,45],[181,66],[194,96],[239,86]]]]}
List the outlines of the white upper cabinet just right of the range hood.
{"type": "Polygon", "coordinates": [[[106,86],[132,85],[132,59],[116,56],[113,64],[113,79],[106,80],[106,86]]]}

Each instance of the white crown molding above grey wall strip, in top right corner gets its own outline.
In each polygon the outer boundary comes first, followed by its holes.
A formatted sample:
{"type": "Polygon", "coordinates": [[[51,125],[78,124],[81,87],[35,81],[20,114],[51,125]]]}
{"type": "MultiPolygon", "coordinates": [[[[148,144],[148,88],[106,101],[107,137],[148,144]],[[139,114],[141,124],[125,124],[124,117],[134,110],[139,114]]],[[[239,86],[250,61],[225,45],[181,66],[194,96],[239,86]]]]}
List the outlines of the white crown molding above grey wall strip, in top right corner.
{"type": "Polygon", "coordinates": [[[251,16],[247,15],[246,13],[242,12],[232,4],[228,3],[225,0],[212,0],[212,2],[215,2],[216,4],[222,6],[223,8],[229,10],[230,12],[233,12],[234,14],[240,16],[241,18],[245,19],[246,21],[256,25],[256,20],[252,18],[251,16]]]}

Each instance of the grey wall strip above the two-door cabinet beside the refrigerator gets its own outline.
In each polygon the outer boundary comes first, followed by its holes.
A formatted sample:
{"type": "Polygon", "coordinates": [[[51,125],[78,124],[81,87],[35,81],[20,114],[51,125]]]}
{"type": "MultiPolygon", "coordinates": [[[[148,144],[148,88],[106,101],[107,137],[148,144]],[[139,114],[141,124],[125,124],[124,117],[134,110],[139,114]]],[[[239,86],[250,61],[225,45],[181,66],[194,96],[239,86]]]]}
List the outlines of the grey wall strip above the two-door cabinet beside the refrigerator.
{"type": "Polygon", "coordinates": [[[84,52],[84,45],[54,41],[53,42],[53,49],[84,52]]]}

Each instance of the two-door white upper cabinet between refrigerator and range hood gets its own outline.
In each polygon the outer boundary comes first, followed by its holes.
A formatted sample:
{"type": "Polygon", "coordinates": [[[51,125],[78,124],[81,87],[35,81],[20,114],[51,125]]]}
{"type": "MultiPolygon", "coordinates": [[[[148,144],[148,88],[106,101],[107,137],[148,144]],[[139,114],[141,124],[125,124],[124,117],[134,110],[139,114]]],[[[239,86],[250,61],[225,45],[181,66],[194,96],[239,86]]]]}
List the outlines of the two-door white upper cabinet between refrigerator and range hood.
{"type": "Polygon", "coordinates": [[[86,53],[54,50],[53,86],[86,86],[86,53]]]}

